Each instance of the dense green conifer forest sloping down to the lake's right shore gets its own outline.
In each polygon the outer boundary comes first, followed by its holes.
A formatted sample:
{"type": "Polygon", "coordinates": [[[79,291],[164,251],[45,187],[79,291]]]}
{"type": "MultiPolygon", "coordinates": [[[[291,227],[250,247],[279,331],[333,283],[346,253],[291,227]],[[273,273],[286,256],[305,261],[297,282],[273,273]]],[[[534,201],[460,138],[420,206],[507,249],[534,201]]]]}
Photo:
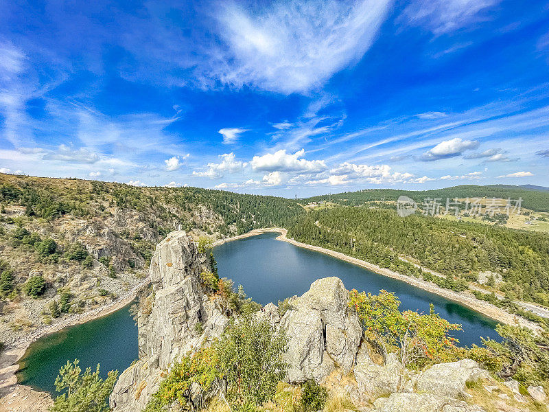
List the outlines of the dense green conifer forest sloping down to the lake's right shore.
{"type": "Polygon", "coordinates": [[[289,229],[288,236],[300,242],[432,280],[399,255],[412,258],[447,275],[434,280],[454,290],[478,281],[482,271],[497,273],[504,280],[498,288],[510,299],[549,304],[549,236],[543,233],[421,215],[400,218],[395,210],[364,207],[310,211],[289,229]]]}

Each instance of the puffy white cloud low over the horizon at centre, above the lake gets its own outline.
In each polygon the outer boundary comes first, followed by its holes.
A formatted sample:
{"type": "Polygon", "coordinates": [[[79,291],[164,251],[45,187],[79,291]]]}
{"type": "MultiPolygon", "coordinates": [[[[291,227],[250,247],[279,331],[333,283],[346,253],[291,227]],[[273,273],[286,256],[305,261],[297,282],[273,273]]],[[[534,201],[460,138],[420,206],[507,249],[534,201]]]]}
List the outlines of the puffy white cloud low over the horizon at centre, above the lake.
{"type": "Polygon", "coordinates": [[[327,169],[323,160],[300,159],[305,155],[301,149],[292,154],[287,154],[285,149],[263,156],[254,156],[250,164],[253,170],[265,170],[268,172],[321,172],[327,169]]]}

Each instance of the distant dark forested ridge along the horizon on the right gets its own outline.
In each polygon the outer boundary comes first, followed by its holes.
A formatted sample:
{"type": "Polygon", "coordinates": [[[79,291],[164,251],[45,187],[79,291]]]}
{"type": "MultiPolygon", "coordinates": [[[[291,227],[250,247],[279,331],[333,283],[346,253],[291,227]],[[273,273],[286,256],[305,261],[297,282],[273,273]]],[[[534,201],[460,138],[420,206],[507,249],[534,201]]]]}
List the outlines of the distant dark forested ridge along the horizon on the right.
{"type": "Polygon", "coordinates": [[[512,185],[460,185],[437,190],[394,190],[367,189],[358,192],[343,192],[338,194],[314,196],[306,201],[318,202],[330,200],[342,205],[362,205],[366,202],[397,201],[399,196],[408,196],[421,203],[425,198],[522,198],[522,206],[535,211],[549,211],[549,192],[544,190],[526,189],[512,185]]]}

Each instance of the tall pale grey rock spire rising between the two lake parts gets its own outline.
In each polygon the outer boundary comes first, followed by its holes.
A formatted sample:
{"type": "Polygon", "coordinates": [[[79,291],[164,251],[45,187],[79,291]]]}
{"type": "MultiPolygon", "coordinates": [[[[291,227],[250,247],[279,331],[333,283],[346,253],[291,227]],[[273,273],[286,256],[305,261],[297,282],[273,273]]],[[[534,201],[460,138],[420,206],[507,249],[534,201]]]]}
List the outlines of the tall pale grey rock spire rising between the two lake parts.
{"type": "Polygon", "coordinates": [[[156,246],[149,273],[152,310],[139,314],[139,361],[115,385],[110,396],[115,411],[143,410],[159,388],[162,371],[208,345],[229,323],[202,290],[202,271],[209,271],[208,260],[184,231],[170,233],[156,246]],[[196,328],[198,323],[202,328],[196,328]]]}

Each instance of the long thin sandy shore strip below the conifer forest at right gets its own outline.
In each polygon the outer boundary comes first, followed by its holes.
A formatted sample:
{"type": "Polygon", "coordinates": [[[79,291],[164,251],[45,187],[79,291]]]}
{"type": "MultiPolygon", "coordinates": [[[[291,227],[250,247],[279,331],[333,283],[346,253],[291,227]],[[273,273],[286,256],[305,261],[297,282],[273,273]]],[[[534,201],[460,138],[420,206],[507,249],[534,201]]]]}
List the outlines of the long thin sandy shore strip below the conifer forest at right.
{"type": "Polygon", "coordinates": [[[451,301],[455,301],[458,304],[461,304],[463,306],[467,306],[467,308],[470,308],[472,310],[475,310],[476,312],[479,312],[483,314],[484,316],[487,316],[495,321],[498,321],[500,323],[506,323],[509,325],[516,325],[519,323],[519,325],[525,326],[527,328],[538,330],[539,326],[537,326],[535,323],[528,321],[527,319],[524,319],[523,317],[519,317],[515,314],[511,314],[509,312],[506,312],[505,310],[498,308],[497,306],[494,306],[492,304],[489,304],[487,301],[482,301],[479,299],[476,299],[474,295],[468,292],[454,292],[454,290],[444,289],[440,288],[439,286],[436,286],[436,284],[433,284],[431,282],[426,282],[423,279],[417,279],[417,277],[410,277],[406,275],[401,275],[400,273],[390,271],[388,268],[382,268],[380,266],[377,266],[375,264],[371,264],[369,262],[365,262],[364,260],[360,260],[358,258],[353,258],[352,256],[345,255],[344,253],[332,251],[330,249],[325,249],[323,247],[318,246],[312,246],[311,244],[306,244],[302,242],[298,242],[294,239],[289,239],[287,237],[288,230],[283,229],[281,227],[270,227],[266,229],[255,229],[253,231],[249,231],[248,233],[244,233],[244,235],[240,236],[234,236],[233,238],[226,238],[224,240],[220,240],[218,242],[214,243],[214,246],[217,246],[218,244],[222,244],[224,242],[230,242],[231,240],[238,240],[243,238],[248,238],[250,236],[257,236],[261,233],[266,232],[277,232],[280,233],[280,236],[277,236],[277,240],[281,240],[283,242],[288,242],[293,244],[296,247],[302,247],[303,249],[309,249],[312,251],[325,253],[326,255],[330,255],[334,258],[344,260],[345,262],[349,262],[358,266],[362,266],[363,268],[369,269],[370,271],[373,271],[375,273],[379,273],[379,275],[384,275],[387,277],[392,277],[393,279],[398,279],[401,282],[406,282],[407,284],[410,284],[416,288],[421,288],[423,290],[427,290],[430,293],[434,293],[436,295],[445,297],[445,299],[449,299],[451,301]]]}

